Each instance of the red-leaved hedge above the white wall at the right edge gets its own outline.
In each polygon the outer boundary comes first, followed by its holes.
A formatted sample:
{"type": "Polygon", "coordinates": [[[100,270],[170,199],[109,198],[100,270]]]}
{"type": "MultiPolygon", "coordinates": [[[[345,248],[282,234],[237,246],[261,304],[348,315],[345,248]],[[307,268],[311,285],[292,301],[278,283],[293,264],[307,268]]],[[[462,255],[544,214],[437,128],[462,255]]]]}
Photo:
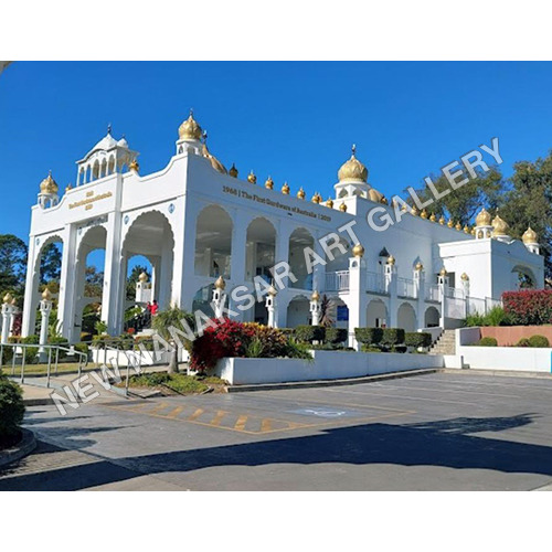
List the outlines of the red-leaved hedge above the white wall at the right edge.
{"type": "Polygon", "coordinates": [[[512,325],[552,322],[552,289],[524,289],[502,294],[502,305],[512,325]]]}

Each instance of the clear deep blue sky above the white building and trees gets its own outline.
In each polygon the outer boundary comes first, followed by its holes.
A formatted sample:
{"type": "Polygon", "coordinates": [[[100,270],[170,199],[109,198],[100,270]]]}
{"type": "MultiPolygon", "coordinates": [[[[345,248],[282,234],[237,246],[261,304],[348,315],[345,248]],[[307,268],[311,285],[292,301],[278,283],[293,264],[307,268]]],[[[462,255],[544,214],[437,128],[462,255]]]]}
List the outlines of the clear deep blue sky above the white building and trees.
{"type": "Polygon", "coordinates": [[[352,142],[386,195],[500,138],[503,170],[552,146],[550,63],[24,63],[0,75],[0,233],[28,240],[30,206],[52,169],[106,132],[163,168],[193,107],[211,151],[241,177],[332,192],[352,142]]]}

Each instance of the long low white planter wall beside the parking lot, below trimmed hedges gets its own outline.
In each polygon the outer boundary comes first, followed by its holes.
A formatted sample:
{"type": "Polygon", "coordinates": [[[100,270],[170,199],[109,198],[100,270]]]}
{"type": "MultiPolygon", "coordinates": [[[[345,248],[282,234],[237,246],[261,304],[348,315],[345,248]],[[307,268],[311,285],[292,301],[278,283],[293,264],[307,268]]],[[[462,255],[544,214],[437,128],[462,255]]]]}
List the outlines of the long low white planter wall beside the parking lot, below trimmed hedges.
{"type": "Polygon", "coordinates": [[[315,351],[298,359],[222,359],[215,374],[233,385],[359,378],[421,368],[443,368],[440,354],[315,351]]]}

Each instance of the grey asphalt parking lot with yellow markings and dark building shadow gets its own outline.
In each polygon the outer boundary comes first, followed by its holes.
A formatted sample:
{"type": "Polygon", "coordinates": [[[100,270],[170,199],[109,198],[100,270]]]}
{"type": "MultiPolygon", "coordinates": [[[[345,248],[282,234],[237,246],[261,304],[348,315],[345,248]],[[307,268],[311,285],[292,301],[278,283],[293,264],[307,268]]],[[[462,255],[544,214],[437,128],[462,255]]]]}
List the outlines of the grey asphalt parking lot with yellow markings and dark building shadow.
{"type": "Polygon", "coordinates": [[[533,490],[552,379],[434,373],[301,390],[30,407],[0,490],[533,490]]]}

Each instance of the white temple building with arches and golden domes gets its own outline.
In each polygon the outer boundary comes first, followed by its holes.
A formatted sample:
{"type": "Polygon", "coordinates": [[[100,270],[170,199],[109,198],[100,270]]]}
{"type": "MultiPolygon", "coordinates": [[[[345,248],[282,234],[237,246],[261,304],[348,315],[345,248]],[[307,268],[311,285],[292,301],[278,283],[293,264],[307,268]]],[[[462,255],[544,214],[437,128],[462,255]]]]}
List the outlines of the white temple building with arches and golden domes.
{"type": "Polygon", "coordinates": [[[311,323],[312,302],[326,295],[335,323],[351,333],[367,326],[455,327],[467,314],[496,305],[503,291],[518,289],[520,276],[535,288],[544,285],[534,232],[528,229],[523,241],[512,240],[507,223],[498,215],[491,220],[485,209],[474,230],[416,210],[384,232],[373,230],[369,211],[379,206],[392,213],[393,206],[368,182],[354,151],[326,201],[270,178],[257,182],[253,172],[240,178],[234,166],[226,170],[191,114],[164,169],[140,174],[137,157],[109,129],[77,161],[75,187],[61,191],[52,174],[40,184],[32,208],[24,336],[34,332],[41,300],[41,254],[54,242],[63,244],[59,319],[72,342],[79,340],[83,309],[91,302],[102,304],[110,335],[123,331],[131,306],[127,267],[135,255],[152,267],[151,282],[140,280],[144,297],[160,308],[178,305],[208,314],[219,277],[230,297],[237,286],[252,288],[256,276],[270,282],[270,268],[286,261],[296,282],[287,278],[272,302],[263,298],[238,317],[264,323],[270,318],[278,327],[311,323]],[[358,240],[338,232],[351,222],[358,240]],[[344,253],[329,259],[319,240],[335,232],[344,253]],[[306,246],[328,261],[314,274],[306,266],[306,246]],[[102,297],[85,294],[86,257],[94,250],[105,250],[102,297]]]}

